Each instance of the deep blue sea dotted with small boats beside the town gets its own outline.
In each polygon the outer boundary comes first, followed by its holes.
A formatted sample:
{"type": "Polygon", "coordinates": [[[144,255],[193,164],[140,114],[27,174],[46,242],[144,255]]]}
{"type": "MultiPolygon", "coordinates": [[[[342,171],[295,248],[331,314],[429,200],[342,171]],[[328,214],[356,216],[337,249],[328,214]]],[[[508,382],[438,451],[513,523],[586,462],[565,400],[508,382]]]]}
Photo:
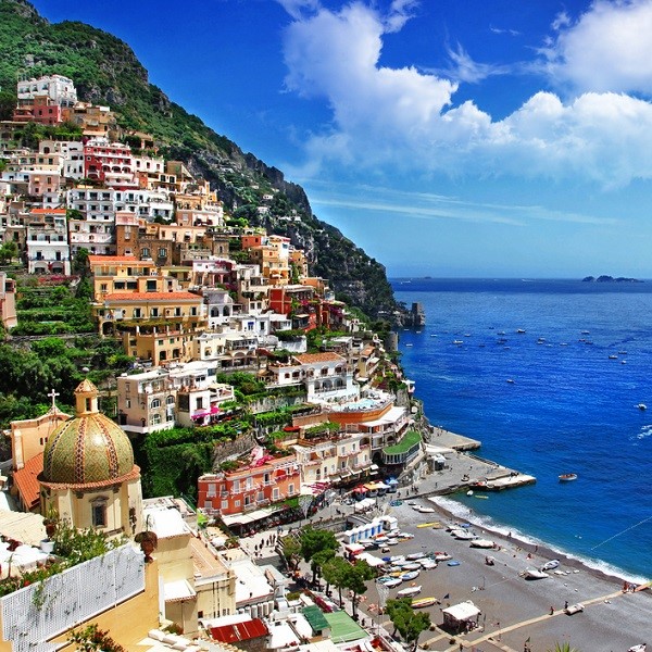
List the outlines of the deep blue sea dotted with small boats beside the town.
{"type": "Polygon", "coordinates": [[[652,281],[392,287],[426,313],[425,327],[399,333],[399,350],[430,423],[537,478],[489,500],[456,496],[456,512],[652,579],[652,281]],[[560,482],[563,473],[578,478],[560,482]]]}

